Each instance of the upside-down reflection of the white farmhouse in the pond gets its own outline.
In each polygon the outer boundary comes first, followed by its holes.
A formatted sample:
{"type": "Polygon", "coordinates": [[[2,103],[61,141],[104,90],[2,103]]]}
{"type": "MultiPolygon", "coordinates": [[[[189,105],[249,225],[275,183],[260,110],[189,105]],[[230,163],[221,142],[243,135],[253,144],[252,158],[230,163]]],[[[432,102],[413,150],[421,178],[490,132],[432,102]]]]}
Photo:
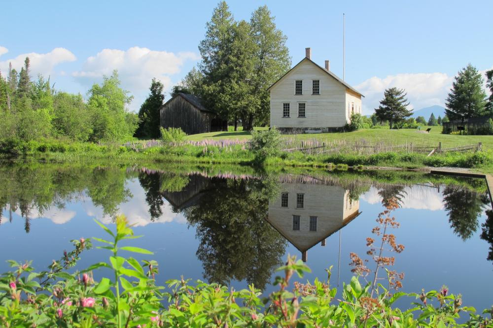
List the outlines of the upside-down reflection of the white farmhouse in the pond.
{"type": "Polygon", "coordinates": [[[269,201],[269,223],[293,244],[306,262],[307,251],[359,215],[359,201],[349,190],[323,184],[281,183],[281,194],[269,201]]]}

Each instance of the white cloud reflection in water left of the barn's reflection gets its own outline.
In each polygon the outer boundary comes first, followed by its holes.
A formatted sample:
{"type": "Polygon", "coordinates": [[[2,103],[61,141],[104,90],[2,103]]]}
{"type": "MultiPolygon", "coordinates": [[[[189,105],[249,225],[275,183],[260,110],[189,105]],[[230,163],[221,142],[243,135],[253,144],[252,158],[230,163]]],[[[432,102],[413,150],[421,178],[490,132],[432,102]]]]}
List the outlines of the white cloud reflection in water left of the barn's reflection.
{"type": "MultiPolygon", "coordinates": [[[[149,214],[149,206],[145,201],[145,192],[137,179],[127,181],[127,187],[130,189],[134,197],[128,202],[118,206],[118,214],[125,214],[130,224],[135,226],[146,226],[149,223],[165,223],[176,221],[178,223],[186,223],[186,219],[181,213],[174,213],[171,205],[164,200],[164,205],[161,206],[163,214],[151,221],[149,214]]],[[[104,215],[101,207],[95,207],[92,203],[84,203],[84,210],[87,215],[95,217],[105,224],[112,223],[113,218],[110,215],[104,215]]]]}

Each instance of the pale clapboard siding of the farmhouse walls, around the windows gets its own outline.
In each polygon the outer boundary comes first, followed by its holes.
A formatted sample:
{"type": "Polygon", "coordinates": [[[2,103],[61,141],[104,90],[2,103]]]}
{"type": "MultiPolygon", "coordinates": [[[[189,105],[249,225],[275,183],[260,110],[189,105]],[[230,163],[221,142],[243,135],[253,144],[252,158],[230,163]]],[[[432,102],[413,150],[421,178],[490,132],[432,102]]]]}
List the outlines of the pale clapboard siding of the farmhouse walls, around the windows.
{"type": "MultiPolygon", "coordinates": [[[[347,88],[310,60],[303,60],[271,89],[271,126],[341,127],[348,120],[347,88]],[[295,94],[295,81],[303,81],[303,94],[295,94]],[[312,81],[320,81],[320,94],[312,94],[312,81]],[[298,103],[306,105],[306,118],[298,118],[298,103]],[[282,117],[283,103],[290,104],[290,117],[282,117]]],[[[355,94],[355,93],[354,93],[355,94]]],[[[354,97],[352,93],[349,96],[354,97]]],[[[354,97],[356,103],[357,97],[354,97]]],[[[358,106],[361,100],[357,99],[358,106]]],[[[351,100],[353,101],[353,100],[351,100]]]]}

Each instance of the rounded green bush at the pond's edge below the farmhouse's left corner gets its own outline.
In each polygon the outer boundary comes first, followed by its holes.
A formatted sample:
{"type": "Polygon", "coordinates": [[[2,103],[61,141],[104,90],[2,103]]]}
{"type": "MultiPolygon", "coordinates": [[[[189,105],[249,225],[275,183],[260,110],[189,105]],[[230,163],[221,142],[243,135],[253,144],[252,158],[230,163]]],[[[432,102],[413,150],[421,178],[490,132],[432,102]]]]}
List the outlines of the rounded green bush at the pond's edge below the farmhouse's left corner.
{"type": "Polygon", "coordinates": [[[275,127],[267,131],[252,131],[248,149],[255,155],[256,162],[264,162],[267,157],[277,156],[281,151],[281,133],[275,127]]]}

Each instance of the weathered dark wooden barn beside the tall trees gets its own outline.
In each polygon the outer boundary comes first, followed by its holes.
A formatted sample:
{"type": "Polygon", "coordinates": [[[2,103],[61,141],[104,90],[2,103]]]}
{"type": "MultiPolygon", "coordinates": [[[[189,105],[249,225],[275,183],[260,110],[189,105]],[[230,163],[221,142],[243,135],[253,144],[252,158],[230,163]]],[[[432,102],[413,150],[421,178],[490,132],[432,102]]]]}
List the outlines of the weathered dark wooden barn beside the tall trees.
{"type": "Polygon", "coordinates": [[[186,134],[227,131],[228,122],[206,108],[193,94],[178,93],[160,109],[161,126],[179,127],[186,134]]]}

